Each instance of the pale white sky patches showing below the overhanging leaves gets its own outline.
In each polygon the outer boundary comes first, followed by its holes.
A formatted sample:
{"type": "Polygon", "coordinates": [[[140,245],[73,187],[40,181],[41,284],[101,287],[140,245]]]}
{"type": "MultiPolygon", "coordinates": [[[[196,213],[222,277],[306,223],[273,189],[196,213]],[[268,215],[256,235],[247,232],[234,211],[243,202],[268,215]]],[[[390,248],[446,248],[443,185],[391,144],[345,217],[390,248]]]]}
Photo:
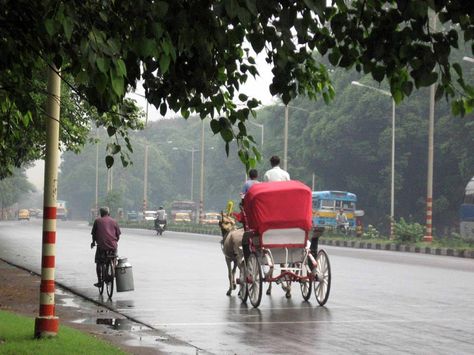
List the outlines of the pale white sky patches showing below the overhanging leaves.
{"type": "MultiPolygon", "coordinates": [[[[263,105],[271,104],[275,98],[273,98],[270,94],[268,86],[272,80],[272,73],[270,66],[265,62],[264,56],[259,55],[256,58],[257,67],[260,72],[260,77],[254,79],[252,76],[249,77],[247,83],[242,86],[240,93],[244,93],[247,96],[255,97],[262,101],[263,105]]],[[[143,94],[143,89],[138,89],[137,92],[139,94],[143,94]]],[[[145,98],[130,94],[128,95],[130,98],[133,98],[137,101],[137,104],[143,108],[143,111],[146,112],[146,100],[145,98]]],[[[238,100],[238,99],[237,99],[238,100]]],[[[238,100],[240,103],[240,101],[238,100]]],[[[167,117],[174,117],[174,112],[168,113],[167,117]]],[[[152,105],[148,105],[148,119],[149,120],[157,120],[161,117],[159,111],[152,105]]],[[[43,190],[44,184],[44,161],[39,160],[35,163],[35,166],[28,169],[26,171],[26,175],[28,176],[29,181],[36,186],[36,188],[40,191],[43,190]]]]}

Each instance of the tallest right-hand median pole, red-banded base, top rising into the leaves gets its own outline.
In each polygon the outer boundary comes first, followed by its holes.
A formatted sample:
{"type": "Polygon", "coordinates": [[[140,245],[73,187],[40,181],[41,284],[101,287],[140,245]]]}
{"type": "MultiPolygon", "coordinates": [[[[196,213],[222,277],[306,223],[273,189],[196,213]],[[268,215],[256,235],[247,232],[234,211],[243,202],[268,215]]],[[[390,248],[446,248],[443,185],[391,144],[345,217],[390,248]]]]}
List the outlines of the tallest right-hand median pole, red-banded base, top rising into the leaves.
{"type": "MultiPolygon", "coordinates": [[[[436,29],[436,15],[433,13],[432,29],[436,29]]],[[[436,84],[430,86],[430,110],[428,123],[428,176],[426,191],[426,235],[423,241],[433,241],[433,159],[434,159],[434,104],[435,104],[436,84]]]]}

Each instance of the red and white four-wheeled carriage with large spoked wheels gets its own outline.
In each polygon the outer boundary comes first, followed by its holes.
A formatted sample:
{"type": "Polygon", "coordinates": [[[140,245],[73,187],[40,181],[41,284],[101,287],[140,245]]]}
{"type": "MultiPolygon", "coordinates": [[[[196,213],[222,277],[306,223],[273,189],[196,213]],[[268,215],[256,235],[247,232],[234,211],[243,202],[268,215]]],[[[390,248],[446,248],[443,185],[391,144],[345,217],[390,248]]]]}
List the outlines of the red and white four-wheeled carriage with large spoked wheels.
{"type": "Polygon", "coordinates": [[[258,307],[263,282],[281,284],[290,297],[291,283],[298,282],[306,301],[314,289],[316,300],[324,305],[331,287],[331,268],[324,250],[310,248],[309,187],[298,181],[254,184],[245,195],[242,213],[245,262],[237,281],[242,301],[249,298],[258,307]]]}

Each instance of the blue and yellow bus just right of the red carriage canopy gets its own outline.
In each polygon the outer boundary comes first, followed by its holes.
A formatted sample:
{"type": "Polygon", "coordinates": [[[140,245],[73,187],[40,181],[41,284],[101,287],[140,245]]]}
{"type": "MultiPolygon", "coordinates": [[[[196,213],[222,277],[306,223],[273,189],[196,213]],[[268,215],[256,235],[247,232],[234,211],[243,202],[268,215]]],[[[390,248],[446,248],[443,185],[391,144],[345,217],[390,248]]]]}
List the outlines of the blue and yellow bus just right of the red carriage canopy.
{"type": "Polygon", "coordinates": [[[341,209],[347,216],[349,227],[356,224],[357,196],[347,191],[313,191],[313,226],[335,228],[336,214],[341,209]]]}

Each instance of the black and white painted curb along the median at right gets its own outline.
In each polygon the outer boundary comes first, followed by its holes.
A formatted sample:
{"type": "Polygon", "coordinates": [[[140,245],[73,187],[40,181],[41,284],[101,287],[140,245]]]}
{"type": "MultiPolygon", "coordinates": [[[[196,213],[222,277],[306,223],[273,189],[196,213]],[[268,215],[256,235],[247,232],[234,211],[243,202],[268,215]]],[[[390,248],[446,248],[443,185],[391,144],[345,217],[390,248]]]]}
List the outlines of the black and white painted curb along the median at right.
{"type": "Polygon", "coordinates": [[[401,251],[405,253],[420,253],[474,259],[474,250],[465,249],[417,247],[405,244],[373,243],[370,241],[358,240],[332,240],[325,238],[320,238],[319,244],[346,248],[401,251]]]}

